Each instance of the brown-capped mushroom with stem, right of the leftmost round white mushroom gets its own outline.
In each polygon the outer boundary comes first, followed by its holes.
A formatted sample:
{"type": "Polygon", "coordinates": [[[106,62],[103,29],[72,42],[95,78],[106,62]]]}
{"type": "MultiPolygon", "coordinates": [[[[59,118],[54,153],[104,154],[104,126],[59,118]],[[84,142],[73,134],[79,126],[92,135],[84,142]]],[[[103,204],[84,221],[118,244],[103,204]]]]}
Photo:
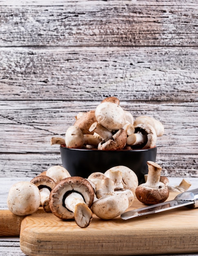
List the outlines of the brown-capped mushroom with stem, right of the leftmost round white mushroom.
{"type": "Polygon", "coordinates": [[[30,182],[38,186],[40,191],[40,205],[43,207],[44,211],[51,212],[49,207],[49,195],[56,185],[56,182],[46,175],[34,177],[30,182]]]}

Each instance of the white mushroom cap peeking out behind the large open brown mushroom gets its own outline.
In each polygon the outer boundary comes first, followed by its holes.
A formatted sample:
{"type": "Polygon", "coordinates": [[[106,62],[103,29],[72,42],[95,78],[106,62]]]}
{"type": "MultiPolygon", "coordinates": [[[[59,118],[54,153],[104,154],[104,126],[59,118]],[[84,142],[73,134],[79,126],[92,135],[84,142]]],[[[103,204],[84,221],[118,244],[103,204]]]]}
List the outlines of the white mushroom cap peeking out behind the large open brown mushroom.
{"type": "Polygon", "coordinates": [[[47,169],[46,175],[51,177],[55,182],[59,182],[67,177],[71,177],[70,173],[63,166],[54,165],[47,169]]]}

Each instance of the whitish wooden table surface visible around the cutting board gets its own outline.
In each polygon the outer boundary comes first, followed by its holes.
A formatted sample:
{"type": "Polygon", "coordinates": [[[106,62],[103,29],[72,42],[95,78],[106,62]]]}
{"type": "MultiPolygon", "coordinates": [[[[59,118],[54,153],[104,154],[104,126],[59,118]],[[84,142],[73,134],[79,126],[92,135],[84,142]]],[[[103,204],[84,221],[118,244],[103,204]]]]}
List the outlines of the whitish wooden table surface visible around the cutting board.
{"type": "MultiPolygon", "coordinates": [[[[186,179],[192,184],[190,189],[194,189],[198,186],[198,178],[186,179]]],[[[7,209],[7,193],[11,185],[22,180],[29,181],[31,178],[0,178],[0,210],[7,209]]],[[[181,177],[169,177],[171,185],[178,185],[181,180],[181,177]]],[[[25,256],[20,250],[19,237],[0,237],[0,256],[25,256]]],[[[195,254],[171,254],[171,256],[198,256],[198,252],[195,254]]]]}

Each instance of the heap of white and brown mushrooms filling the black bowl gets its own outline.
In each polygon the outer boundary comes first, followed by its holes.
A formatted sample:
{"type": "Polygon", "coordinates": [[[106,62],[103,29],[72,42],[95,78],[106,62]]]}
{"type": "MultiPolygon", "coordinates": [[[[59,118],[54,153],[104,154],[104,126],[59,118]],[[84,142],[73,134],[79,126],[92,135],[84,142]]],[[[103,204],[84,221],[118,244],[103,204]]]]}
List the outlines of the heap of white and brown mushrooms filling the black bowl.
{"type": "Polygon", "coordinates": [[[68,148],[131,150],[153,148],[164,126],[153,117],[133,115],[120,106],[116,97],[105,98],[95,110],[79,112],[65,138],[52,137],[51,144],[68,148]]]}

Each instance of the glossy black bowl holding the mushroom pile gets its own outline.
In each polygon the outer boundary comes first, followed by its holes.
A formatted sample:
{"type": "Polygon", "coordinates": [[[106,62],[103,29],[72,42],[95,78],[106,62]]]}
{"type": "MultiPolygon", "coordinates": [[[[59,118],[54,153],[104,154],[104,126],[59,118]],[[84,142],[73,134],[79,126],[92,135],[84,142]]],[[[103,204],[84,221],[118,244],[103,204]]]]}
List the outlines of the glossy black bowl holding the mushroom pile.
{"type": "Polygon", "coordinates": [[[71,176],[87,178],[91,173],[105,173],[113,166],[124,165],[138,176],[139,184],[145,182],[147,161],[156,161],[157,147],[135,150],[91,150],[60,146],[62,165],[71,176]]]}

